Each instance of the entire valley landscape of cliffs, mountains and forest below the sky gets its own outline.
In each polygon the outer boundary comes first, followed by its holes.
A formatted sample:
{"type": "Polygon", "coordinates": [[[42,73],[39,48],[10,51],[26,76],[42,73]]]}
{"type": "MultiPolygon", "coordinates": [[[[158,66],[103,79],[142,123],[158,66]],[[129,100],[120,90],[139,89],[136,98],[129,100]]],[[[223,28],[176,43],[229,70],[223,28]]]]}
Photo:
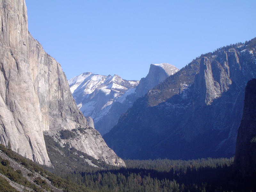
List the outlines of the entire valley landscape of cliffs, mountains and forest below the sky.
{"type": "Polygon", "coordinates": [[[0,16],[0,191],[256,190],[256,37],[140,80],[67,80],[25,0],[0,16]]]}

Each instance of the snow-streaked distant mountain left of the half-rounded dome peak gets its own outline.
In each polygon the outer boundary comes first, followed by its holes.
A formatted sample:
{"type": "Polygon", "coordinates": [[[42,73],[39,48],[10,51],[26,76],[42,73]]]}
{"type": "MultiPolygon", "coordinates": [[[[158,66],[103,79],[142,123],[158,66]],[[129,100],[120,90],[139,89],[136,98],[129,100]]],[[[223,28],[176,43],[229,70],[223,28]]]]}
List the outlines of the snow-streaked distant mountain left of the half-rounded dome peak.
{"type": "MultiPolygon", "coordinates": [[[[101,134],[105,134],[116,124],[116,121],[113,118],[108,118],[100,126],[98,126],[98,122],[111,113],[109,110],[115,102],[124,103],[125,98],[134,93],[139,81],[127,81],[118,75],[104,76],[87,72],[68,80],[68,84],[80,111],[84,116],[91,116],[95,128],[101,134]]],[[[125,111],[122,111],[121,114],[123,112],[125,111]]],[[[116,114],[119,112],[116,111],[111,116],[116,114]]]]}

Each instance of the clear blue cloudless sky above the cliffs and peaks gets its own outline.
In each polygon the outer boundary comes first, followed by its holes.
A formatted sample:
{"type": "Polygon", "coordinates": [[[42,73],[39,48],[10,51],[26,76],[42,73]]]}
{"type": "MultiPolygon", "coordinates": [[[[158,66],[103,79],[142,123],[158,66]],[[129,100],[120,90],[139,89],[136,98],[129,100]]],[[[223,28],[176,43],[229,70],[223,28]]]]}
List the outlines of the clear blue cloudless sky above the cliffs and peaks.
{"type": "Polygon", "coordinates": [[[68,79],[90,71],[140,80],[256,36],[256,1],[26,0],[28,30],[68,79]]]}

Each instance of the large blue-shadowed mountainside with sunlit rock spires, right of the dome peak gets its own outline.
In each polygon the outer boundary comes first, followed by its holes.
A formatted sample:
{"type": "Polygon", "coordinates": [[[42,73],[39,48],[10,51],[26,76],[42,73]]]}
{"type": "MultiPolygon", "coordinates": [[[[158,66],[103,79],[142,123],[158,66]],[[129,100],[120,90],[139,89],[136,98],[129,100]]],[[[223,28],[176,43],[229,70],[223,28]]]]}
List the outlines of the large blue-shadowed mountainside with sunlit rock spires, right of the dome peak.
{"type": "Polygon", "coordinates": [[[233,156],[256,38],[196,58],[135,101],[104,136],[125,158],[233,156]]]}

